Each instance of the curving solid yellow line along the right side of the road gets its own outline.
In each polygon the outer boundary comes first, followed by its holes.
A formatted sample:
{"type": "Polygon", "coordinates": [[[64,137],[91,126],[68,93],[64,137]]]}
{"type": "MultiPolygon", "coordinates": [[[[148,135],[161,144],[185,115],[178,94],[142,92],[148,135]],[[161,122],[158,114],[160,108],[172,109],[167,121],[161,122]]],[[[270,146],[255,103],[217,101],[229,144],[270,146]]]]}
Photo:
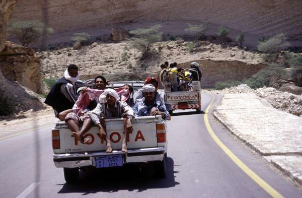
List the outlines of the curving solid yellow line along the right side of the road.
{"type": "Polygon", "coordinates": [[[272,188],[268,183],[266,183],[263,179],[261,179],[255,172],[253,172],[247,165],[245,165],[228,147],[226,147],[215,135],[214,131],[212,130],[209,121],[208,121],[208,111],[210,106],[214,102],[215,97],[212,94],[212,101],[208,105],[205,110],[204,114],[204,123],[207,128],[208,133],[214,140],[214,142],[224,151],[226,155],[228,155],[233,162],[241,168],[249,177],[251,177],[260,187],[262,187],[267,193],[269,193],[272,197],[283,197],[279,192],[277,192],[274,188],[272,188]]]}

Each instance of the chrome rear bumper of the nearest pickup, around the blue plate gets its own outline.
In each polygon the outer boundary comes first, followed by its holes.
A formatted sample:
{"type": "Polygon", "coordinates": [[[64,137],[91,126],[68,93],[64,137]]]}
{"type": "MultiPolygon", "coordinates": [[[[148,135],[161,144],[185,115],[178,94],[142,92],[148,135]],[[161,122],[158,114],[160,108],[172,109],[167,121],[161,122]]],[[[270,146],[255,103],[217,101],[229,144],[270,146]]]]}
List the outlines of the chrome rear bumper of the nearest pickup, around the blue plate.
{"type": "Polygon", "coordinates": [[[76,168],[85,166],[96,166],[97,156],[122,154],[123,163],[139,163],[150,161],[162,161],[166,153],[165,147],[132,149],[127,153],[116,151],[113,153],[92,152],[92,153],[71,153],[53,154],[53,162],[57,168],[76,168]]]}

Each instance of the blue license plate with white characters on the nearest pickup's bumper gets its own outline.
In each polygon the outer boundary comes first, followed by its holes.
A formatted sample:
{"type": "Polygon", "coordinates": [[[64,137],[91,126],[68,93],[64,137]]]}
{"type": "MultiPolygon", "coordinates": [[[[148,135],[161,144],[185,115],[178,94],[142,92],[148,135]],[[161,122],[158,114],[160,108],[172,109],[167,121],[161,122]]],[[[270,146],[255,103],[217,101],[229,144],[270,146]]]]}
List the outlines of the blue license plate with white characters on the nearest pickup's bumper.
{"type": "Polygon", "coordinates": [[[96,157],[97,168],[123,166],[122,155],[108,155],[96,157]]]}

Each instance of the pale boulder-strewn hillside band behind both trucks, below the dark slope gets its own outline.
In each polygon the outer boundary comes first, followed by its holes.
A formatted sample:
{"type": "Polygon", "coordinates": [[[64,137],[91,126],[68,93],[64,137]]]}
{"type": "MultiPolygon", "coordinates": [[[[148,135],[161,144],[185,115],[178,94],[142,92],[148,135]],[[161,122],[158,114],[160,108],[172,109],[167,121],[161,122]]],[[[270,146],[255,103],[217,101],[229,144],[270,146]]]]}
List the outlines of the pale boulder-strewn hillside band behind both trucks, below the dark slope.
{"type": "Polygon", "coordinates": [[[104,75],[110,81],[144,80],[147,76],[156,76],[161,70],[160,64],[165,61],[176,61],[182,68],[197,61],[203,71],[203,87],[213,87],[219,81],[249,78],[265,67],[261,54],[238,47],[223,48],[207,41],[199,42],[199,47],[191,53],[183,40],[159,42],[155,49],[155,54],[147,60],[140,60],[140,52],[130,49],[127,42],[93,43],[80,50],[69,47],[36,53],[36,56],[41,58],[44,78],[57,79],[66,65],[74,63],[80,67],[81,79],[104,75]]]}

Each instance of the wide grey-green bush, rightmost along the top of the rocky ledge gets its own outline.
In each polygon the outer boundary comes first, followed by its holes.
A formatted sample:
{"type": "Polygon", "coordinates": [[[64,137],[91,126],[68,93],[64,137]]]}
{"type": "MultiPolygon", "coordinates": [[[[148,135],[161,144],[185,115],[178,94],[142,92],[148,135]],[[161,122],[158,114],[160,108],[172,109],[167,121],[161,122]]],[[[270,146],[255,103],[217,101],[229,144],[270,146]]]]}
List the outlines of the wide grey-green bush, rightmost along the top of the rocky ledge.
{"type": "Polygon", "coordinates": [[[259,42],[258,50],[264,53],[277,53],[290,46],[284,34],[278,34],[266,41],[259,42]]]}

